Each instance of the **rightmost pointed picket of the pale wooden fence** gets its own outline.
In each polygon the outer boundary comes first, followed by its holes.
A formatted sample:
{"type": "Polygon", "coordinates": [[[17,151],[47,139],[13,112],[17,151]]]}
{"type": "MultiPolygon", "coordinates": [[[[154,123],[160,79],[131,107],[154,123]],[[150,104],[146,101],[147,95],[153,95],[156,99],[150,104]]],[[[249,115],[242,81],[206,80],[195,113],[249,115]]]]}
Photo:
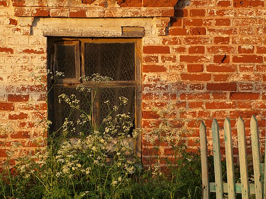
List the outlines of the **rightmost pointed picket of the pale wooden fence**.
{"type": "Polygon", "coordinates": [[[256,199],[262,199],[262,184],[260,182],[260,147],[259,147],[258,122],[254,115],[251,117],[250,130],[251,130],[251,144],[252,144],[256,199]]]}

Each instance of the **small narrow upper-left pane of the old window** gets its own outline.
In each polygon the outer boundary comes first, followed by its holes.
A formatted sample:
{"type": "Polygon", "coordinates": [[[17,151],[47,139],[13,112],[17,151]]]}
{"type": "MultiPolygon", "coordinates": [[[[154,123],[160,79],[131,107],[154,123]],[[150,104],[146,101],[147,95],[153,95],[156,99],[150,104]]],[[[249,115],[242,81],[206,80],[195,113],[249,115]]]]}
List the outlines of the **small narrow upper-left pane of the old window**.
{"type": "Polygon", "coordinates": [[[57,70],[64,79],[76,79],[75,45],[57,45],[57,70]]]}

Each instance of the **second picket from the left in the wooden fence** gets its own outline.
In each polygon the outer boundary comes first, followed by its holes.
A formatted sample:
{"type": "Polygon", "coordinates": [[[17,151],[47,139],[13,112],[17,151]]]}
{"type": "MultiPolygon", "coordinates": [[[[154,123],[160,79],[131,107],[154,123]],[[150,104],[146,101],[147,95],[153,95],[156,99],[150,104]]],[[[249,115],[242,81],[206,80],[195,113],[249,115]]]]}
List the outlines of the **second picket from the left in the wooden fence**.
{"type": "Polygon", "coordinates": [[[216,185],[216,198],[223,199],[223,175],[221,173],[221,157],[220,157],[220,137],[219,126],[216,119],[212,122],[212,142],[213,142],[213,159],[214,159],[214,173],[215,173],[215,185],[216,185]]]}

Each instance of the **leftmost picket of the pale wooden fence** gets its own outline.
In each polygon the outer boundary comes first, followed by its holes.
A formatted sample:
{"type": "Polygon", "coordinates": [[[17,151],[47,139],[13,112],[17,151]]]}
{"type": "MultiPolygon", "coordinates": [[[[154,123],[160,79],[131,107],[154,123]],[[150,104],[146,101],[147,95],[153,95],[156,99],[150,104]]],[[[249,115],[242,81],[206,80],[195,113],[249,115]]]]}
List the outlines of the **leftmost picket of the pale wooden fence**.
{"type": "Polygon", "coordinates": [[[201,140],[203,199],[208,199],[210,197],[209,196],[210,189],[209,189],[207,137],[206,137],[206,127],[203,121],[201,121],[200,125],[200,140],[201,140]]]}

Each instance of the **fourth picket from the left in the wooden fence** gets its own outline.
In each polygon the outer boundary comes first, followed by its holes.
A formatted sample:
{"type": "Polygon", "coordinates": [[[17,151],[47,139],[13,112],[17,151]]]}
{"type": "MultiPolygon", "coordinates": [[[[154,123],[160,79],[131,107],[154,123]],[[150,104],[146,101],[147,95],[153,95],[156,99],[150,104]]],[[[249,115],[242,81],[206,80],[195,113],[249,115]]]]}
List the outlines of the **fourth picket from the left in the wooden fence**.
{"type": "Polygon", "coordinates": [[[239,166],[241,178],[241,193],[242,198],[249,198],[249,178],[248,178],[248,163],[247,163],[247,148],[245,137],[245,124],[241,117],[237,119],[237,139],[238,139],[238,152],[239,152],[239,166]]]}

